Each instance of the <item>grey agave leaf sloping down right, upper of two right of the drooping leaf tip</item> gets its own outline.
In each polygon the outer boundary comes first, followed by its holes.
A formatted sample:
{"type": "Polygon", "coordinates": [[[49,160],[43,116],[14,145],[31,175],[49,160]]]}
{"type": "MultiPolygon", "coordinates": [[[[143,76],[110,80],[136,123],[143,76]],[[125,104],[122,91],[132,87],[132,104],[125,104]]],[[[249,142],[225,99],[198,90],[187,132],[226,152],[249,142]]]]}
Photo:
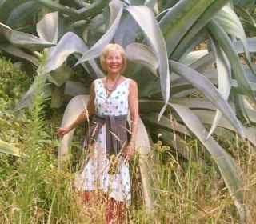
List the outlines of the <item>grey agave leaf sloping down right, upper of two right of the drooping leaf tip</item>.
{"type": "Polygon", "coordinates": [[[174,61],[170,61],[170,63],[174,72],[180,74],[183,78],[186,78],[188,82],[200,90],[202,94],[204,94],[218,110],[222,111],[222,114],[230,121],[238,133],[243,137],[241,123],[236,118],[230,105],[222,98],[215,86],[202,74],[190,69],[190,67],[174,61]]]}

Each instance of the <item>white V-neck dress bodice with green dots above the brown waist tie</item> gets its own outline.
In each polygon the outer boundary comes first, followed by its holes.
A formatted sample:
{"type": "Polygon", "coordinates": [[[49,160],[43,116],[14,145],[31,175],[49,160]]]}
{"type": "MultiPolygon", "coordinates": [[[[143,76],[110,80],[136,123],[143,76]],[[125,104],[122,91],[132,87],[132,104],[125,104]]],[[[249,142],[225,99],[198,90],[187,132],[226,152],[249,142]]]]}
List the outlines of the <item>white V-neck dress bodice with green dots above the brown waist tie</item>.
{"type": "Polygon", "coordinates": [[[94,81],[94,106],[96,114],[114,116],[128,114],[129,83],[130,79],[126,78],[108,96],[102,78],[96,79],[94,81]]]}

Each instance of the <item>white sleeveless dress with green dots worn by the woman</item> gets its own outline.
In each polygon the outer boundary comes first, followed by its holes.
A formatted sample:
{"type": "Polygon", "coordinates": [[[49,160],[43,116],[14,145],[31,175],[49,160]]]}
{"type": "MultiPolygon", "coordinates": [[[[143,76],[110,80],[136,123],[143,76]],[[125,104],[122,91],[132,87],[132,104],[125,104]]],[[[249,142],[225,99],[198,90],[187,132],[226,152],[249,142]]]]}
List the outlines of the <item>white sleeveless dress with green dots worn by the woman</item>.
{"type": "MultiPolygon", "coordinates": [[[[130,78],[118,84],[108,96],[103,86],[102,78],[94,81],[95,113],[101,115],[128,114],[128,95],[130,78]]],[[[118,159],[118,172],[109,174],[110,160],[106,155],[106,124],[99,130],[93,153],[84,166],[82,173],[76,178],[75,186],[78,190],[102,190],[110,198],[119,202],[130,203],[130,175],[128,162],[124,158],[118,159]]]]}

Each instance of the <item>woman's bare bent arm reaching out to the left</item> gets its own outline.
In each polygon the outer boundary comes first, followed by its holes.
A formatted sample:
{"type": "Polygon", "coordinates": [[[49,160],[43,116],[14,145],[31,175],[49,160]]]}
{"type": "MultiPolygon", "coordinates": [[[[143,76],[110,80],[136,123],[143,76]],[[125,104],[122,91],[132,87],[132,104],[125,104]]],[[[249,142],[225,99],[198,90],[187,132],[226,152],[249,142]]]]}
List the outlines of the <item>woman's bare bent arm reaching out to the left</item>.
{"type": "Polygon", "coordinates": [[[93,82],[92,85],[90,86],[90,98],[87,103],[86,109],[82,110],[82,113],[79,114],[78,118],[73,123],[71,123],[70,126],[58,128],[57,130],[58,137],[63,138],[65,134],[69,133],[70,130],[73,130],[76,126],[78,126],[82,122],[89,121],[90,115],[95,113],[94,98],[95,98],[95,93],[94,93],[94,82],[93,82]]]}

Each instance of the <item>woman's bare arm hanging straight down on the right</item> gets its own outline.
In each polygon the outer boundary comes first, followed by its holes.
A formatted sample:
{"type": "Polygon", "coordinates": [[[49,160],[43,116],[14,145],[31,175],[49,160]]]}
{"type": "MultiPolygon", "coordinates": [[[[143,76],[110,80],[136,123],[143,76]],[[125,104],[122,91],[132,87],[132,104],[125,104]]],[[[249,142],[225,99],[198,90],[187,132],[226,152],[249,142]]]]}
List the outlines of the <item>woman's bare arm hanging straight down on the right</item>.
{"type": "Polygon", "coordinates": [[[138,130],[138,85],[134,80],[130,81],[128,103],[130,107],[131,134],[130,142],[126,146],[126,158],[130,160],[135,150],[135,140],[138,130]]]}

